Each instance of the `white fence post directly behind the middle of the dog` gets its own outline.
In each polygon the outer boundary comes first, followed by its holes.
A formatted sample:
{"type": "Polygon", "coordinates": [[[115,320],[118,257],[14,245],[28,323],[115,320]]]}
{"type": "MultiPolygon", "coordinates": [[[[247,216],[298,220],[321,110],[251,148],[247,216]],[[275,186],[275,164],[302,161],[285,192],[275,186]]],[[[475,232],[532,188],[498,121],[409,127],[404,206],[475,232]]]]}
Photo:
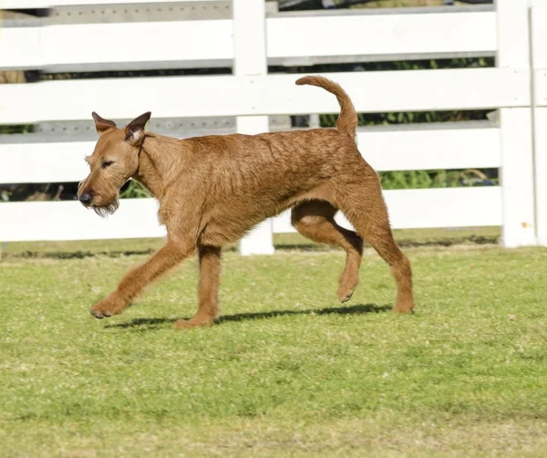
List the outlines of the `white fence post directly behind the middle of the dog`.
{"type": "MultiPolygon", "coordinates": [[[[268,72],[266,56],[266,2],[233,0],[233,73],[238,77],[262,76],[268,72]]],[[[238,133],[269,130],[267,116],[238,116],[238,133]]],[[[274,253],[272,220],[256,226],[240,242],[241,255],[274,253]]]]}

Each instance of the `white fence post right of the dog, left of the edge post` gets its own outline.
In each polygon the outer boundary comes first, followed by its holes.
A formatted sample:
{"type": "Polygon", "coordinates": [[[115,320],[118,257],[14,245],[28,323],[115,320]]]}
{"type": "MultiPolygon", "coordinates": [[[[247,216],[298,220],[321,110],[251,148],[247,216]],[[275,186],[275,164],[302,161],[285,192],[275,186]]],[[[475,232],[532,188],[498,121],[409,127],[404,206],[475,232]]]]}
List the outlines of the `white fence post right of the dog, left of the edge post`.
{"type": "MultiPolygon", "coordinates": [[[[530,71],[528,0],[496,0],[495,4],[497,67],[530,71]]],[[[500,135],[501,244],[535,245],[532,108],[500,109],[500,135]]]]}

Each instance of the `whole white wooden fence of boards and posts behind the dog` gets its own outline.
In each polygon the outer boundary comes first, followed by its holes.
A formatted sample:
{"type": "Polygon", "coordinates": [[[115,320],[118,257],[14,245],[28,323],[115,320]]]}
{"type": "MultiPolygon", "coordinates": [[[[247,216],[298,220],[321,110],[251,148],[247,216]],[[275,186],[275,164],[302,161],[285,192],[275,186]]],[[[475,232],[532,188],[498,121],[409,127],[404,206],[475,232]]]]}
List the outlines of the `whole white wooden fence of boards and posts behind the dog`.
{"type": "MultiPolygon", "coordinates": [[[[201,0],[206,1],[212,0],[201,0]]],[[[0,0],[6,9],[141,3],[159,2],[0,0]]],[[[496,68],[325,76],[346,88],[359,112],[499,109],[497,124],[361,129],[360,151],[377,171],[501,168],[501,186],[386,191],[394,227],[501,225],[503,245],[547,245],[547,0],[385,15],[362,10],[266,15],[262,1],[233,0],[232,11],[231,19],[211,21],[5,27],[0,69],[98,63],[156,68],[228,60],[233,75],[1,85],[0,124],[91,122],[92,110],[109,119],[131,119],[151,110],[156,118],[235,116],[237,131],[258,133],[268,130],[269,115],[338,111],[331,94],[296,87],[300,75],[268,75],[267,63],[274,59],[495,53],[496,68]]],[[[0,183],[79,182],[88,173],[83,157],[93,144],[55,137],[0,142],[0,183]]],[[[77,202],[1,203],[0,241],[162,236],[156,209],[150,199],[124,200],[118,213],[102,220],[77,202]]],[[[241,252],[272,253],[272,234],[292,231],[284,213],[259,225],[243,240],[241,252]]]]}

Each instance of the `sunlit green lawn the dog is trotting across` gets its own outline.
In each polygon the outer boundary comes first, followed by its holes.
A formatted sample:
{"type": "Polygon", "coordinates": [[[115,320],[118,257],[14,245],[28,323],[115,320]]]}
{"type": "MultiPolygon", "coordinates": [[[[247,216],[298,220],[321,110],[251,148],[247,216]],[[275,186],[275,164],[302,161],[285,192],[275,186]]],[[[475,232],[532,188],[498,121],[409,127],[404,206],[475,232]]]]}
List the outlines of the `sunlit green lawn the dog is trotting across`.
{"type": "Polygon", "coordinates": [[[88,314],[158,241],[8,245],[0,456],[546,456],[547,250],[435,240],[405,248],[412,316],[375,253],[340,306],[343,254],[287,236],[227,252],[222,321],[190,331],[195,260],[88,314]]]}

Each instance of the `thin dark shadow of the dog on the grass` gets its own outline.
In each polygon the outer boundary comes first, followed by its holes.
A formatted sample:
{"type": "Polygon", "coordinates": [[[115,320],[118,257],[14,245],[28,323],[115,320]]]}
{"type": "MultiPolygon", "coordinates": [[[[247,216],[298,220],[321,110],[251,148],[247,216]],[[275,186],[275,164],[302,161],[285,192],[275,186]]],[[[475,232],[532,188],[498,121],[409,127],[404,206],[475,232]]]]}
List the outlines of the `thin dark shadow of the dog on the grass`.
{"type": "MultiPolygon", "coordinates": [[[[392,306],[377,306],[376,304],[359,304],[351,307],[326,307],[326,308],[308,308],[305,310],[273,310],[271,312],[253,312],[253,313],[236,313],[233,315],[223,315],[216,324],[230,321],[244,321],[253,319],[268,319],[275,317],[285,317],[290,315],[364,315],[367,313],[385,313],[391,310],[392,306]]],[[[134,318],[123,323],[106,325],[105,328],[140,328],[140,329],[155,329],[160,328],[166,323],[175,323],[179,318],[134,318]]]]}

